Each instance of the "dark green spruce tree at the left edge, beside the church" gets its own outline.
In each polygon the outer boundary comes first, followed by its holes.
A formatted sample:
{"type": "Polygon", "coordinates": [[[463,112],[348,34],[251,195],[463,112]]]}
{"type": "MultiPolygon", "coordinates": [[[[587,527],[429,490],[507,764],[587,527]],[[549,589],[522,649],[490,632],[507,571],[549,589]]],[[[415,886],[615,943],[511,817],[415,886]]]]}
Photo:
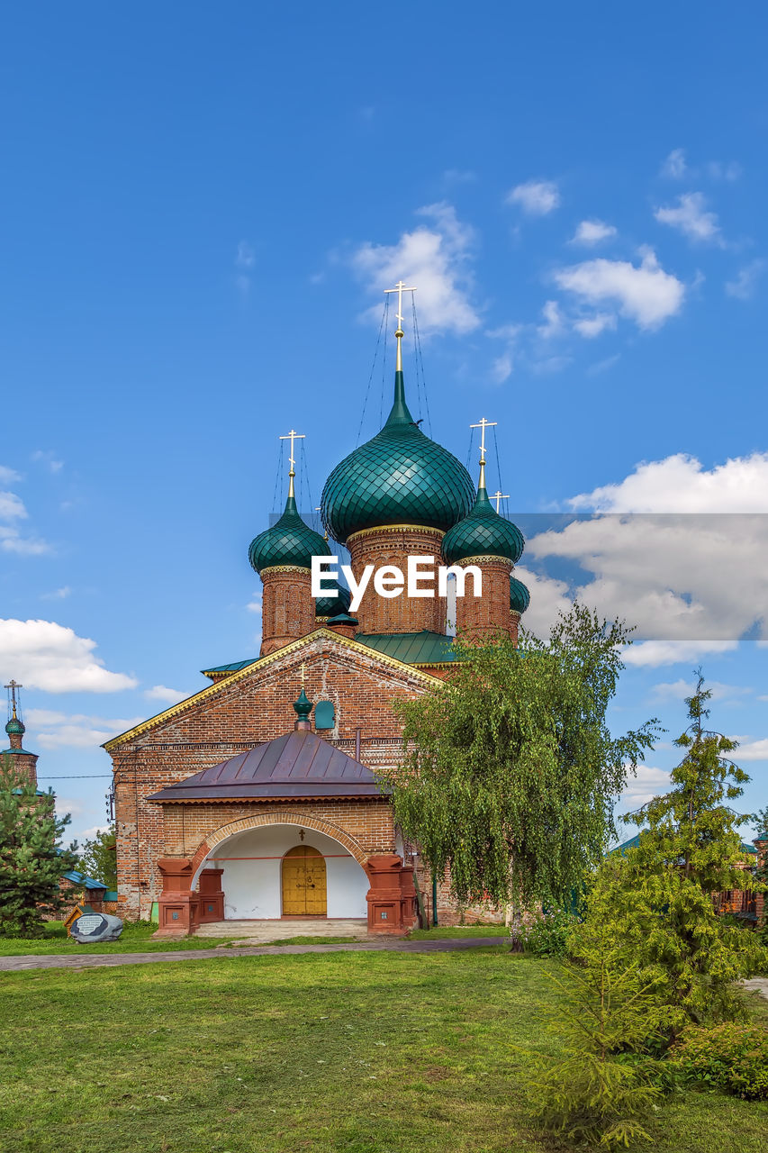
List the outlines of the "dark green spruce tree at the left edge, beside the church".
{"type": "MultiPolygon", "coordinates": [[[[60,894],[63,873],[75,868],[73,850],[61,847],[69,816],[55,814],[51,790],[36,786],[13,767],[10,756],[0,761],[0,934],[36,936],[46,917],[55,915],[65,900],[60,894]]],[[[76,845],[73,849],[76,850],[76,845]]]]}

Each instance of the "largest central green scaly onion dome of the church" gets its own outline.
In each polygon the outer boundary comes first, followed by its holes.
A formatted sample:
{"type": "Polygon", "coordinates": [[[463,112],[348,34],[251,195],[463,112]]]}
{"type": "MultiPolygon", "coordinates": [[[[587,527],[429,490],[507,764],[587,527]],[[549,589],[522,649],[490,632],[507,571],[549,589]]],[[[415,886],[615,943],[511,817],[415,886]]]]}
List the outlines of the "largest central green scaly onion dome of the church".
{"type": "Polygon", "coordinates": [[[464,465],[430,440],[408,410],[402,372],[382,431],[337,465],[323,489],[323,525],[344,544],[353,533],[385,525],[446,530],[472,507],[474,485],[464,465]]]}

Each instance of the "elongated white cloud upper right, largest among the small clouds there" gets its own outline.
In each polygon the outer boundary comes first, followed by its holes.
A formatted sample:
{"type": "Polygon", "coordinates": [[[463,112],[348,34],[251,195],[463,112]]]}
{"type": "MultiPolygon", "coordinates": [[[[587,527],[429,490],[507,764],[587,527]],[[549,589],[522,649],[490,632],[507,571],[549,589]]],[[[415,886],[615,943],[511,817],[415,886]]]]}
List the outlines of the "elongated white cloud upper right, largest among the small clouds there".
{"type": "Polygon", "coordinates": [[[639,267],[628,261],[600,257],[559,269],[555,281],[589,304],[616,304],[622,316],[641,329],[657,329],[679,312],[685,297],[683,282],[664,272],[648,250],[639,267]]]}

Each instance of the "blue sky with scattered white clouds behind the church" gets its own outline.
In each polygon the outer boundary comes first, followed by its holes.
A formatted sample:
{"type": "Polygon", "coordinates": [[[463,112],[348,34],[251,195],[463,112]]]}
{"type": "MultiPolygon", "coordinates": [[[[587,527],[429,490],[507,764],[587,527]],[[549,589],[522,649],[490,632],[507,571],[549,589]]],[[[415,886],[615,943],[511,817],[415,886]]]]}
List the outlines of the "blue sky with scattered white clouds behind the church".
{"type": "Polygon", "coordinates": [[[74,835],[104,740],[257,655],[278,438],[311,514],[386,414],[400,277],[412,408],[473,474],[497,422],[529,626],[575,596],[637,625],[610,721],[668,731],[619,811],[664,789],[698,665],[740,811],[768,804],[767,30],[655,0],[5,12],[0,675],[74,835]]]}

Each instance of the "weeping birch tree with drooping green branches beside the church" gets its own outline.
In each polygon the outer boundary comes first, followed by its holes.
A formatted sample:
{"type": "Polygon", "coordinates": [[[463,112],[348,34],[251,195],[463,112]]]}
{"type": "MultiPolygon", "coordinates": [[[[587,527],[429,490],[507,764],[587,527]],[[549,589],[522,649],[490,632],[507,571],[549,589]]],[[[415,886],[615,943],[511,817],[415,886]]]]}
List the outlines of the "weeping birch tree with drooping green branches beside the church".
{"type": "Polygon", "coordinates": [[[460,903],[563,905],[602,859],[615,801],[658,731],[608,726],[630,632],[577,604],[545,641],[458,643],[450,679],[396,706],[396,819],[438,876],[450,869],[460,903]]]}

